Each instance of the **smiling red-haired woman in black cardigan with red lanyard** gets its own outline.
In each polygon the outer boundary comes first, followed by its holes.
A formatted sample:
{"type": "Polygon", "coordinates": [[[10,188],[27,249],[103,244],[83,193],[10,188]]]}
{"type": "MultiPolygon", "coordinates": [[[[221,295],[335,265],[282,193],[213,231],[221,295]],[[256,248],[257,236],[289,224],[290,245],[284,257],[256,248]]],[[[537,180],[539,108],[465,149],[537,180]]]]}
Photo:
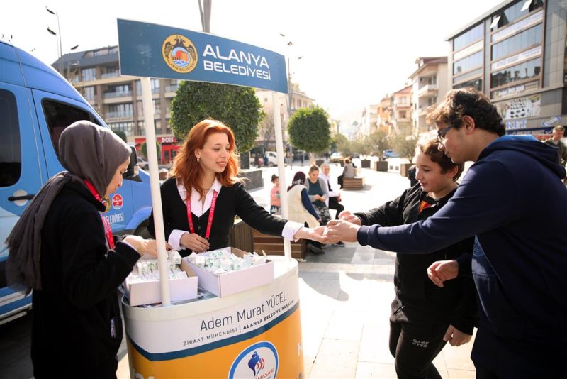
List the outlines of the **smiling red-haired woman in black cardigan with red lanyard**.
{"type": "MultiPolygon", "coordinates": [[[[237,172],[232,130],[210,119],[193,126],[175,157],[172,177],[161,187],[165,238],[181,256],[230,246],[235,216],[264,234],[320,239],[313,229],[260,207],[237,172]]],[[[155,235],[153,213],[147,229],[155,235]]]]}

